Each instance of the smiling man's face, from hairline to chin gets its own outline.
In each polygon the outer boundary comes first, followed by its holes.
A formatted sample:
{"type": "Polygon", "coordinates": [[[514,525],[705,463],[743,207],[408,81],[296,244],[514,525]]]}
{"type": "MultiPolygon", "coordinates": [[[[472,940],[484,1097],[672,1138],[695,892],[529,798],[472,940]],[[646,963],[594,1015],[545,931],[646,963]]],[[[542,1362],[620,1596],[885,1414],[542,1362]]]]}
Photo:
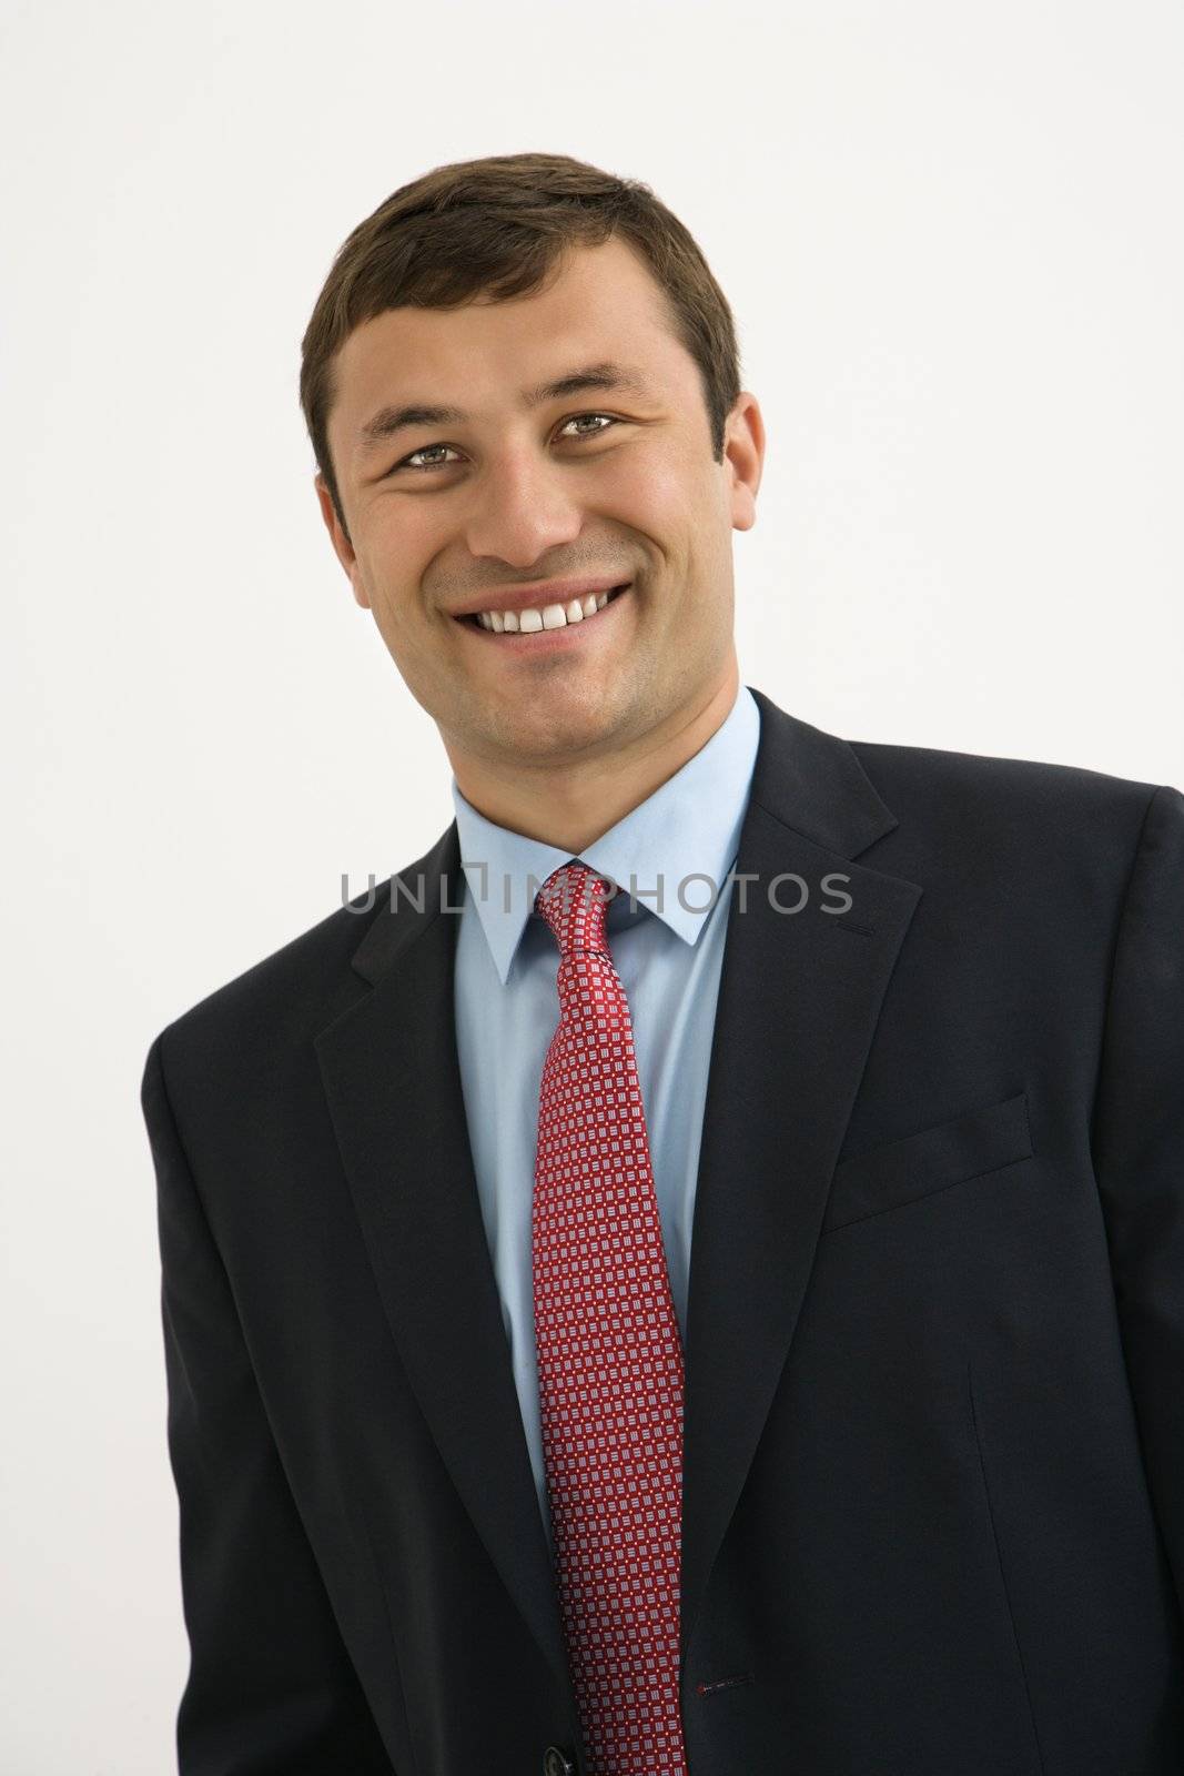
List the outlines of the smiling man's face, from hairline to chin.
{"type": "Polygon", "coordinates": [[[348,336],[335,371],[328,444],[350,536],[318,476],[321,511],[454,765],[607,757],[676,732],[719,691],[760,410],[740,396],[715,462],[698,366],[623,242],[573,249],[531,297],[391,309],[348,336]],[[586,371],[591,385],[573,385],[586,371]],[[625,590],[538,632],[458,616],[524,595],[566,607],[589,586],[625,590]]]}

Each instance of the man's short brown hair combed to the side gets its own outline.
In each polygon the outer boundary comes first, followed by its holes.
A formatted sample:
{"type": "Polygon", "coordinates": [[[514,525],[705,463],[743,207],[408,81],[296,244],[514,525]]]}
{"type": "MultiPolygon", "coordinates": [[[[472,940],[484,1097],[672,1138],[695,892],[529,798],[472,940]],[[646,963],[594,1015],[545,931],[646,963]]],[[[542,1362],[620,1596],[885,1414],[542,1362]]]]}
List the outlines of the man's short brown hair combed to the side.
{"type": "Polygon", "coordinates": [[[362,321],[398,307],[447,309],[540,289],[573,245],[621,236],[666,295],[673,330],[699,366],[722,460],[724,417],[740,392],[735,321],[691,233],[639,179],[568,155],[488,155],[399,186],[343,242],[300,346],[300,407],[344,529],[328,453],[334,357],[362,321]]]}

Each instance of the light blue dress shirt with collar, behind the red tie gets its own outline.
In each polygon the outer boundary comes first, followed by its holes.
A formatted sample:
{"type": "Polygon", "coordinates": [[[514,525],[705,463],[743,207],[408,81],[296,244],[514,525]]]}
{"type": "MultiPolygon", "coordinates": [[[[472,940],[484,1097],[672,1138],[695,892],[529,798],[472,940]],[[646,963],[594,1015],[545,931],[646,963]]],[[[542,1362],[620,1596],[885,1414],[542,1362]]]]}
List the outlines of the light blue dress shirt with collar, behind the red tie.
{"type": "MultiPolygon", "coordinates": [[[[650,1163],[678,1327],[687,1337],[691,1229],[706,1069],[760,710],[730,716],[653,796],[579,852],[618,883],[605,931],[628,998],[650,1163]],[[660,884],[660,902],[655,890],[660,884]],[[632,895],[632,900],[630,900],[632,895]]],[[[486,821],[453,778],[465,872],[456,934],[456,1048],[485,1233],[502,1304],[543,1526],[550,1534],[534,1348],[531,1201],[543,1060],[559,1023],[559,947],[534,893],[572,861],[486,821]]]]}

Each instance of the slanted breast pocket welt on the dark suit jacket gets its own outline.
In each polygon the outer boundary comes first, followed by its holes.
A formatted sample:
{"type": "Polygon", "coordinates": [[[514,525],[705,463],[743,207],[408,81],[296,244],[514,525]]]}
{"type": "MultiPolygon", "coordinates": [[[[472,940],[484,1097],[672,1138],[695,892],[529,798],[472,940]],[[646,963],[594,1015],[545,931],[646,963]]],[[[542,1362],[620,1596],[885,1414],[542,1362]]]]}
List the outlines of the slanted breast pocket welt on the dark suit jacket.
{"type": "Polygon", "coordinates": [[[998,1172],[1031,1158],[1031,1151],[1026,1092],[983,1110],[966,1110],[950,1122],[840,1160],[822,1233],[998,1172]]]}

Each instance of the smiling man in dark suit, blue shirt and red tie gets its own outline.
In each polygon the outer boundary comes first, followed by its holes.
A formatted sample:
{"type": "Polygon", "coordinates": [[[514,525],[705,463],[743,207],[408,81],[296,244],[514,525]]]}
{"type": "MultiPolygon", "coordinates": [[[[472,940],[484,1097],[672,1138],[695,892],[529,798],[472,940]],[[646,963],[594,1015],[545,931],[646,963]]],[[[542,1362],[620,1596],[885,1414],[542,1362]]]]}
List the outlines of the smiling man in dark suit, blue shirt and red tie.
{"type": "Polygon", "coordinates": [[[1184,1767],[1184,799],[740,686],[657,199],[442,167],[304,341],[454,821],[170,1023],[186,1776],[1184,1767]]]}

